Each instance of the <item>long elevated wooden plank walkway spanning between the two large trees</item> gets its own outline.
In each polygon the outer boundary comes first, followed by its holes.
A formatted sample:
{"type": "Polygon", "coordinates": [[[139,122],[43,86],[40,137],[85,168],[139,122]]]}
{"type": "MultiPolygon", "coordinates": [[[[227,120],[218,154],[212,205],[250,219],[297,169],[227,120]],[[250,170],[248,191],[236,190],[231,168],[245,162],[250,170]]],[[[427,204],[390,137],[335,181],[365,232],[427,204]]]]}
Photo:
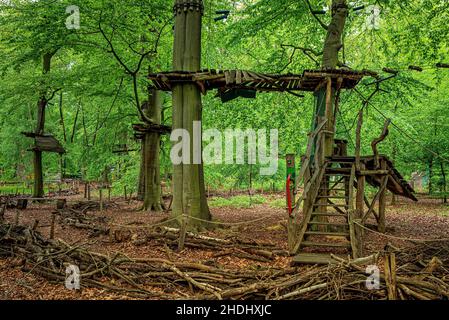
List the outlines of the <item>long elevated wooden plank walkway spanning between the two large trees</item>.
{"type": "Polygon", "coordinates": [[[306,70],[302,74],[266,74],[246,70],[202,70],[198,72],[171,71],[149,75],[156,89],[171,91],[173,85],[196,83],[203,94],[208,90],[252,90],[257,92],[314,92],[327,79],[340,89],[354,88],[363,77],[377,77],[370,71],[353,70],[306,70]]]}

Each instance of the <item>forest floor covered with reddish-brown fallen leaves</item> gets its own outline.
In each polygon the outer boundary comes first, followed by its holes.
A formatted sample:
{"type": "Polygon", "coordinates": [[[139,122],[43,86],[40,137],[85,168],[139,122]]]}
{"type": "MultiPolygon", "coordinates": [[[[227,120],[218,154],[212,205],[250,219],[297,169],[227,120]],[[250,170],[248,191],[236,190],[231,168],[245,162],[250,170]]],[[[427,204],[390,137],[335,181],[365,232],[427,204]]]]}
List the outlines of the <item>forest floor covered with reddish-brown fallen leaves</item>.
{"type": "MultiPolygon", "coordinates": [[[[261,197],[261,196],[259,196],[261,197]]],[[[279,203],[283,202],[282,194],[263,195],[267,200],[264,203],[255,204],[250,208],[238,208],[235,206],[211,208],[215,221],[225,223],[241,223],[244,221],[257,222],[241,225],[227,225],[202,233],[205,236],[215,238],[237,238],[239,240],[257,241],[274,244],[277,249],[287,249],[287,216],[279,203]],[[277,203],[278,205],[272,205],[277,203]]],[[[70,201],[82,201],[82,195],[69,197],[70,201]]],[[[214,202],[217,199],[211,199],[214,202]]],[[[182,252],[176,252],[176,248],[161,245],[160,242],[150,240],[144,244],[136,245],[136,239],[145,235],[142,228],[148,224],[158,223],[169,217],[169,213],[144,213],[139,211],[138,201],[125,201],[113,199],[113,206],[103,212],[99,210],[89,211],[88,216],[99,218],[98,221],[108,221],[109,224],[132,226],[129,237],[120,241],[112,239],[108,235],[96,235],[92,237],[91,230],[75,228],[61,223],[59,219],[55,224],[55,239],[62,239],[70,244],[83,244],[93,252],[112,256],[115,252],[121,252],[131,258],[164,258],[170,260],[182,260],[183,262],[201,262],[206,265],[225,267],[226,269],[257,269],[263,266],[287,268],[291,258],[288,256],[276,256],[270,262],[254,261],[244,257],[228,254],[217,254],[216,250],[186,248],[182,252]],[[139,228],[140,227],[140,228],[139,228]]],[[[55,204],[32,203],[24,211],[20,211],[19,224],[32,226],[35,220],[39,220],[38,231],[44,237],[50,234],[52,212],[55,204]]],[[[14,223],[17,219],[15,209],[7,210],[5,219],[14,223]]],[[[374,223],[373,221],[368,223],[374,223]]],[[[375,232],[367,232],[364,251],[371,254],[382,250],[387,243],[403,248],[411,244],[407,239],[436,239],[449,238],[449,205],[442,204],[441,200],[420,197],[420,201],[414,203],[405,199],[398,199],[395,205],[387,207],[387,236],[375,232]]],[[[305,270],[308,266],[303,267],[305,270]]],[[[159,288],[160,289],[160,288],[159,288]]],[[[155,290],[159,290],[155,288],[155,290]]],[[[163,289],[162,289],[163,290],[163,289]]],[[[16,259],[0,259],[0,299],[131,299],[106,290],[96,288],[83,289],[81,291],[69,291],[64,283],[50,283],[46,279],[21,271],[16,259]]]]}

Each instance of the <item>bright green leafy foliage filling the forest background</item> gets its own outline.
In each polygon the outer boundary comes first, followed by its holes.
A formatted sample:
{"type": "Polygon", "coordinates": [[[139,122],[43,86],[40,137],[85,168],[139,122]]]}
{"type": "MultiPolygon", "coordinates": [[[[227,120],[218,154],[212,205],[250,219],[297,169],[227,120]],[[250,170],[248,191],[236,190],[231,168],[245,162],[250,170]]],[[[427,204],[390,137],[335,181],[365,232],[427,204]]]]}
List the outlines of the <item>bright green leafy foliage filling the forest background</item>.
{"type": "MultiPolygon", "coordinates": [[[[325,31],[309,13],[306,1],[204,3],[204,68],[302,73],[319,65],[320,56],[310,57],[292,47],[322,50],[325,31]],[[215,22],[216,10],[230,10],[229,19],[215,22]]],[[[311,3],[321,10],[330,1],[311,3]]],[[[381,153],[393,158],[406,178],[416,171],[429,172],[432,165],[437,191],[442,177],[440,165],[447,166],[449,161],[449,70],[435,67],[438,62],[449,63],[447,1],[351,2],[352,6],[360,4],[381,6],[380,28],[367,28],[367,10],[351,11],[342,62],[354,69],[377,71],[381,77],[389,76],[382,72],[384,67],[399,71],[396,77],[381,83],[382,91],[373,96],[365,110],[362,153],[372,153],[370,143],[379,136],[384,116],[391,118],[394,125],[380,145],[381,153]],[[424,71],[411,71],[410,65],[421,66],[424,71]]],[[[41,92],[51,97],[61,89],[47,107],[46,132],[54,134],[67,150],[65,172],[99,180],[107,167],[114,192],[122,193],[125,185],[136,189],[140,144],[133,139],[132,124],[140,121],[137,102],[147,99],[148,70],[171,69],[172,5],[172,0],[0,2],[0,180],[31,179],[32,157],[27,150],[32,141],[20,132],[34,130],[41,92]],[[65,27],[68,5],[80,8],[80,30],[65,27]],[[51,72],[43,75],[42,56],[48,52],[55,55],[51,72]],[[148,55],[142,59],[144,52],[148,55]],[[129,71],[136,71],[140,63],[135,91],[129,71]],[[65,134],[59,111],[61,92],[65,134]],[[121,144],[136,151],[113,153],[121,144]]],[[[322,19],[328,23],[329,15],[322,19]]],[[[354,151],[362,96],[366,98],[376,89],[370,85],[372,81],[366,79],[357,92],[347,91],[341,96],[337,136],[349,140],[349,153],[354,151]]],[[[259,93],[256,99],[222,104],[209,93],[203,98],[203,128],[278,129],[278,173],[260,176],[258,165],[251,170],[253,188],[268,190],[275,184],[282,190],[282,158],[295,153],[299,163],[311,128],[312,106],[311,94],[298,98],[288,93],[259,93]]],[[[165,99],[163,119],[171,124],[170,95],[165,99]]],[[[168,137],[163,138],[161,150],[161,174],[167,180],[171,173],[168,137]]],[[[46,179],[57,176],[59,157],[45,155],[44,169],[46,179]]],[[[247,189],[249,170],[248,165],[208,165],[206,184],[213,189],[247,189]]],[[[245,199],[240,200],[243,203],[245,199]]]]}

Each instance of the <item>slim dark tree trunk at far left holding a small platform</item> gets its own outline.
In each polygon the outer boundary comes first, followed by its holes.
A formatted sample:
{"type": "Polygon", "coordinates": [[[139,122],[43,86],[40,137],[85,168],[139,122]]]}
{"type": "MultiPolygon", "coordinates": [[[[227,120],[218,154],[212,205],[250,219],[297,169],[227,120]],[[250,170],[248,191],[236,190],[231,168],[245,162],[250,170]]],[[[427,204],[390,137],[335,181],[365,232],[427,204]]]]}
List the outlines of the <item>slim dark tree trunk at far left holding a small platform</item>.
{"type": "MultiPolygon", "coordinates": [[[[43,74],[50,72],[52,53],[46,53],[43,56],[43,74]]],[[[36,131],[37,135],[44,134],[45,130],[45,108],[47,107],[48,100],[46,98],[46,92],[41,92],[41,96],[37,103],[37,124],[36,131]]],[[[34,151],[33,159],[34,167],[34,189],[33,197],[42,198],[44,196],[44,175],[42,169],[42,152],[34,151]]]]}

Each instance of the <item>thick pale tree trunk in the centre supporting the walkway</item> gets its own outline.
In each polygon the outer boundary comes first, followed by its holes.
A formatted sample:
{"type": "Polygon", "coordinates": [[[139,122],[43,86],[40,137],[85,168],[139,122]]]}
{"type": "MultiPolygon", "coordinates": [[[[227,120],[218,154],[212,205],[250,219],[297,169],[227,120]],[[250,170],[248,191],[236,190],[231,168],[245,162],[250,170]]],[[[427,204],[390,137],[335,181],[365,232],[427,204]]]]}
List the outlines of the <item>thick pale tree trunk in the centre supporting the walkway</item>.
{"type": "MultiPolygon", "coordinates": [[[[173,68],[178,71],[198,71],[201,68],[201,24],[203,1],[175,1],[175,40],[173,68]],[[190,6],[187,7],[187,6],[190,6]],[[193,10],[190,10],[193,8],[193,10]]],[[[211,215],[207,205],[203,164],[193,164],[201,158],[201,137],[199,150],[194,150],[194,121],[201,121],[201,94],[195,84],[173,86],[173,129],[185,129],[190,136],[190,163],[173,167],[173,215],[190,215],[197,219],[189,221],[190,226],[201,227],[201,220],[209,221],[211,215]],[[194,152],[200,154],[194,155],[194,152]]]]}

